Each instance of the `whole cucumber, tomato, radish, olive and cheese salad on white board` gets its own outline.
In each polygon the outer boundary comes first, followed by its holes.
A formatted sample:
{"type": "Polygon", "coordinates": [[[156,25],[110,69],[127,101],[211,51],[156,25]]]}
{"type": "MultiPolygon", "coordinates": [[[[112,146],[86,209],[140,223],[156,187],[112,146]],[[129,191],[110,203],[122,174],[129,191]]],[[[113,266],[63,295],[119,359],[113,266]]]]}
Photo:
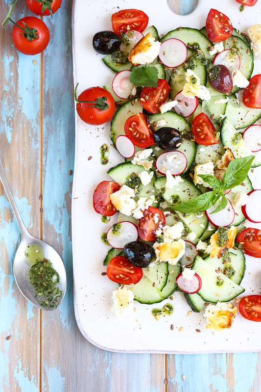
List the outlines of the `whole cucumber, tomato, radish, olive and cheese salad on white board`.
{"type": "MultiPolygon", "coordinates": [[[[119,215],[104,260],[120,285],[113,310],[125,315],[133,299],[155,304],[182,290],[192,311],[206,308],[208,328],[229,328],[237,311],[230,301],[244,292],[244,254],[261,257],[261,231],[242,225],[261,222],[261,191],[248,178],[261,150],[255,40],[250,47],[214,9],[201,30],[178,27],[161,40],[147,24],[139,10],[114,14],[114,32],[94,37],[116,72],[112,83],[78,98],[75,89],[84,121],[113,116],[110,137],[125,158],[94,192],[96,212],[119,215]]],[[[260,321],[260,299],[243,297],[240,313],[260,321]]]]}

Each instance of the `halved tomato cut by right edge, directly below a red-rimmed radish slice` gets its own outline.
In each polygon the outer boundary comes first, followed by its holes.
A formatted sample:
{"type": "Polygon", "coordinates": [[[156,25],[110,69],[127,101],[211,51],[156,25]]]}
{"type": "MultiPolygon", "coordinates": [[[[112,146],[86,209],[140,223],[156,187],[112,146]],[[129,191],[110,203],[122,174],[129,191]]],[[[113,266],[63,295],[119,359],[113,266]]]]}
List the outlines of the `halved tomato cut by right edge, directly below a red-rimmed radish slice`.
{"type": "Polygon", "coordinates": [[[237,243],[243,245],[244,252],[253,257],[261,258],[261,235],[259,229],[247,227],[237,235],[237,243]]]}

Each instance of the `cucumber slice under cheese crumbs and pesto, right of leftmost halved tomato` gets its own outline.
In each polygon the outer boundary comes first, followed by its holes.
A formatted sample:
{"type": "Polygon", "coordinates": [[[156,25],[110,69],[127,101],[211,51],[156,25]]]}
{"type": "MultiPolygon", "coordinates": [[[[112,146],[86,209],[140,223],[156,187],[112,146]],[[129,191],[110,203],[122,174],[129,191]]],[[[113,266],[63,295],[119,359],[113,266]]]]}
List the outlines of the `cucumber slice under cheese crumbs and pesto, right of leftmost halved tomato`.
{"type": "MultiPolygon", "coordinates": [[[[109,176],[112,177],[116,183],[118,183],[120,186],[122,186],[127,178],[132,175],[132,173],[135,173],[136,176],[143,172],[145,169],[141,165],[133,165],[130,162],[124,162],[124,163],[119,163],[119,165],[112,167],[111,169],[108,170],[109,176]]],[[[150,173],[151,170],[148,170],[148,173],[150,173]]],[[[156,180],[156,175],[153,173],[151,182],[148,185],[140,185],[139,188],[137,188],[137,193],[135,194],[135,199],[138,199],[140,197],[146,197],[149,198],[151,195],[153,195],[154,187],[153,183],[156,180]],[[149,193],[147,193],[150,191],[149,193]]]]}

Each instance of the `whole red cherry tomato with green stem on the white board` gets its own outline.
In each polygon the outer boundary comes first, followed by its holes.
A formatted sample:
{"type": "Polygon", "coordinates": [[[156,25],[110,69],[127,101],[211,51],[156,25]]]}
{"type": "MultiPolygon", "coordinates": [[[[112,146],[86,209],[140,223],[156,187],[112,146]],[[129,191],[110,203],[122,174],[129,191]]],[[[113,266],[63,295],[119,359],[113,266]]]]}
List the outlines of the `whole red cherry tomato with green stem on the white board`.
{"type": "Polygon", "coordinates": [[[88,103],[77,102],[76,104],[79,117],[87,124],[101,125],[109,121],[114,115],[115,101],[112,94],[104,88],[87,88],[78,96],[77,101],[88,101],[88,103]],[[105,97],[105,103],[108,105],[104,110],[99,108],[97,103],[95,104],[96,100],[101,97],[105,97]]]}

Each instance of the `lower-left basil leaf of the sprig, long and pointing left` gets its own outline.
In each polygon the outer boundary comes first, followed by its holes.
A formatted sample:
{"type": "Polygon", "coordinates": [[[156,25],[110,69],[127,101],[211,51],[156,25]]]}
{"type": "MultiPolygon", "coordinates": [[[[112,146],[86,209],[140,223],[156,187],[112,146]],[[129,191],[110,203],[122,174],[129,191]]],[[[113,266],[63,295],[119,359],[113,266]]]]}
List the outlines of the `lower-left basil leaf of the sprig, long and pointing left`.
{"type": "Polygon", "coordinates": [[[197,199],[189,200],[188,202],[178,204],[177,206],[173,207],[175,211],[180,212],[200,212],[205,211],[214,205],[216,202],[215,200],[215,192],[206,192],[202,195],[198,196],[197,199]],[[213,203],[214,201],[214,203],[213,203]]]}

